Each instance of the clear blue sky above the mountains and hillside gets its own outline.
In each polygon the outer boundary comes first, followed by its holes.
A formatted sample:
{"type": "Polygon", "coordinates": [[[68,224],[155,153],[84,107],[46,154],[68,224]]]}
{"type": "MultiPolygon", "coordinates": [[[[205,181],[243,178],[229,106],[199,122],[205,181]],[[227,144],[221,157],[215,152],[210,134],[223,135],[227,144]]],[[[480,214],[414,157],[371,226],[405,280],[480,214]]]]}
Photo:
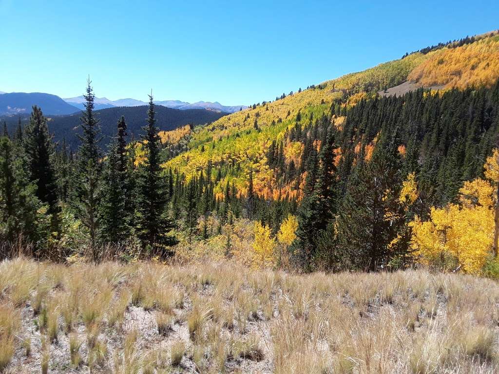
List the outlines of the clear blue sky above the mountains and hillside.
{"type": "Polygon", "coordinates": [[[491,1],[0,0],[0,90],[274,99],[499,27],[491,1]]]}

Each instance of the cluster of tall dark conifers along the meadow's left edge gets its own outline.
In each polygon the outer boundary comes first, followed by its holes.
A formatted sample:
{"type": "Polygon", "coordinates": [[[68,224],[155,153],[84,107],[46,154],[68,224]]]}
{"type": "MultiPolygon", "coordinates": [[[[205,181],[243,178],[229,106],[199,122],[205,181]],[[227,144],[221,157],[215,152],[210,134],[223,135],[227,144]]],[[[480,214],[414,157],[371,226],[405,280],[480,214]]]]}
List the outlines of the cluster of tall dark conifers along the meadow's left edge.
{"type": "MultiPolygon", "coordinates": [[[[29,247],[40,258],[62,259],[82,254],[98,261],[103,255],[162,255],[176,243],[169,232],[172,189],[163,176],[160,139],[150,97],[142,128],[143,156],[127,145],[124,117],[102,154],[102,134],[88,83],[76,153],[56,151],[47,119],[34,106],[24,132],[1,137],[0,238],[3,255],[29,247]],[[127,251],[119,248],[127,247],[127,251]],[[105,249],[107,248],[107,253],[105,249]],[[118,253],[119,252],[119,253],[118,253]]],[[[145,113],[144,113],[145,114],[145,113]]]]}

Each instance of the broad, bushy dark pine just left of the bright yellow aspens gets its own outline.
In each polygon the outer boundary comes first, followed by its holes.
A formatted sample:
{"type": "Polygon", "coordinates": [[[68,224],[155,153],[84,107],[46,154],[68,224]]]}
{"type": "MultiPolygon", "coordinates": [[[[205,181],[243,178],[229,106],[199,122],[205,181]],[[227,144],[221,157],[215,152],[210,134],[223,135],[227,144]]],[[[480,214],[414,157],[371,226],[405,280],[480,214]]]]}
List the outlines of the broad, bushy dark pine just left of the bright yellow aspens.
{"type": "Polygon", "coordinates": [[[385,267],[403,247],[402,242],[394,245],[405,224],[398,161],[395,153],[378,149],[367,165],[356,168],[350,181],[337,232],[344,260],[354,266],[385,267]]]}

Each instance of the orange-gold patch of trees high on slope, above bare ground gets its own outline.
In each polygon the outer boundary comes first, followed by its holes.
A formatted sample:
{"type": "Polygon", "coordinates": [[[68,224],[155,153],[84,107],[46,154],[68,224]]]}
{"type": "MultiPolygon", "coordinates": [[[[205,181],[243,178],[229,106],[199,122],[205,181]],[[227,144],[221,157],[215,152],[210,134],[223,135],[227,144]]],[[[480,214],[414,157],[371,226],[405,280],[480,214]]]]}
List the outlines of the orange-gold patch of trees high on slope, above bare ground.
{"type": "Polygon", "coordinates": [[[430,87],[466,88],[491,86],[499,78],[499,35],[472,44],[435,51],[408,76],[410,81],[430,87]]]}

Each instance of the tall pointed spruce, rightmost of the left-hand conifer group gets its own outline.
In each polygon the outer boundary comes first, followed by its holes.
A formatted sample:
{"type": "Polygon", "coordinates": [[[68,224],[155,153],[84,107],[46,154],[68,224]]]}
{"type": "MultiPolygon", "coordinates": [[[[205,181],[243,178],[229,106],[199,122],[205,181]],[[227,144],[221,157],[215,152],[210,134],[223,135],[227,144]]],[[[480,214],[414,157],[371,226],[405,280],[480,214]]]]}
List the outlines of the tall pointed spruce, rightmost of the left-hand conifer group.
{"type": "Polygon", "coordinates": [[[154,252],[163,254],[165,246],[176,244],[174,236],[167,233],[174,227],[168,217],[168,193],[166,179],[160,165],[158,129],[152,94],[149,95],[147,126],[144,128],[145,160],[139,167],[137,180],[137,233],[143,248],[149,246],[154,252]]]}

